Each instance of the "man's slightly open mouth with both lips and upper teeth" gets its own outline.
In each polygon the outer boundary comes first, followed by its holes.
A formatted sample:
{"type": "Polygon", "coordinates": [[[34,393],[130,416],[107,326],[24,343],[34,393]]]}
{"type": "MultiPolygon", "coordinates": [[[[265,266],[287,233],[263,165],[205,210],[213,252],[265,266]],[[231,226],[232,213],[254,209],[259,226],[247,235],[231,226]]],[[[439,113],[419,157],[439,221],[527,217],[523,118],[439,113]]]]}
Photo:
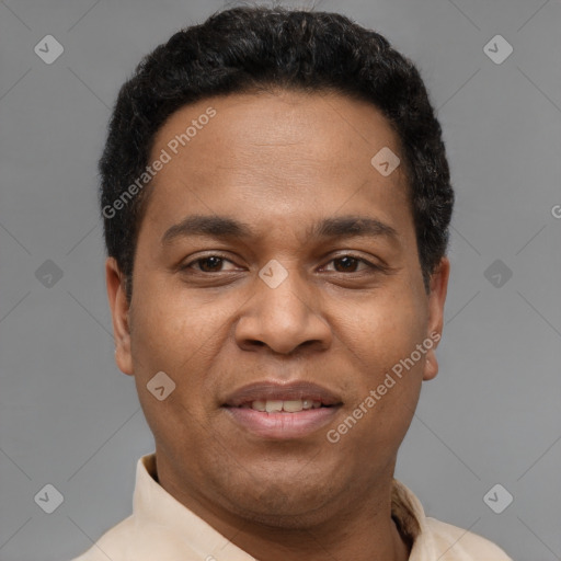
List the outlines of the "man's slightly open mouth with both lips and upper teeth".
{"type": "Polygon", "coordinates": [[[304,438],[333,421],[343,405],[333,392],[311,382],[257,382],[221,405],[243,431],[265,439],[304,438]]]}

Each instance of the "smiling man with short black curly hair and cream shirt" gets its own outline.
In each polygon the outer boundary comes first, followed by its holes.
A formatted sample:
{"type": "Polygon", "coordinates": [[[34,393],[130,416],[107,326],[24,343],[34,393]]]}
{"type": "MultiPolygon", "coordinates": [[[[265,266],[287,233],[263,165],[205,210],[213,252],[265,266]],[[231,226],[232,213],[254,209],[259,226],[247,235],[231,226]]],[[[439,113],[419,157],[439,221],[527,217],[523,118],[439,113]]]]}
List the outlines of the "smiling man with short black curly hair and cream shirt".
{"type": "Polygon", "coordinates": [[[156,454],[80,561],[508,559],[393,479],[454,202],[411,61],[339,14],[219,12],[123,87],[100,169],[156,454]]]}

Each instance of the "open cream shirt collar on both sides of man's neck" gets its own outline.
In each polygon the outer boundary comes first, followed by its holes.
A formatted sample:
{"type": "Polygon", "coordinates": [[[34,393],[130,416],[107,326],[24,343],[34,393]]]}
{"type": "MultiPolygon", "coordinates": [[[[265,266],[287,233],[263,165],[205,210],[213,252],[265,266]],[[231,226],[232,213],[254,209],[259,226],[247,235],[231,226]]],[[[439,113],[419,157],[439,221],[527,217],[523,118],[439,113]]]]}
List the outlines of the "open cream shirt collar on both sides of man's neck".
{"type": "MultiPolygon", "coordinates": [[[[147,523],[164,526],[168,531],[181,537],[202,559],[216,561],[254,561],[209,524],[169,494],[156,480],[156,455],[138,460],[136,488],[133,500],[134,519],[139,525],[147,523]]],[[[409,560],[434,559],[436,548],[419,499],[403,483],[393,479],[391,491],[391,515],[405,540],[412,545],[409,560]]]]}

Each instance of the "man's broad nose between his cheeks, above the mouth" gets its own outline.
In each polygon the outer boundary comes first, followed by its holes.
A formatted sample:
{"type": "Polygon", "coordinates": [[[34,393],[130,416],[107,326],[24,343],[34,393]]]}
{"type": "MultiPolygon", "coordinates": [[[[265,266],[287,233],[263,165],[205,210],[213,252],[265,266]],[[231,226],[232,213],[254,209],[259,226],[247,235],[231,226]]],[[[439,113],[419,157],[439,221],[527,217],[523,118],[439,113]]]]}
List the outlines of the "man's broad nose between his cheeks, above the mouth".
{"type": "Polygon", "coordinates": [[[332,331],[321,316],[321,298],[307,286],[296,271],[276,287],[255,278],[255,291],[240,312],[236,341],[240,348],[253,351],[268,347],[289,355],[304,347],[327,350],[332,331]]]}

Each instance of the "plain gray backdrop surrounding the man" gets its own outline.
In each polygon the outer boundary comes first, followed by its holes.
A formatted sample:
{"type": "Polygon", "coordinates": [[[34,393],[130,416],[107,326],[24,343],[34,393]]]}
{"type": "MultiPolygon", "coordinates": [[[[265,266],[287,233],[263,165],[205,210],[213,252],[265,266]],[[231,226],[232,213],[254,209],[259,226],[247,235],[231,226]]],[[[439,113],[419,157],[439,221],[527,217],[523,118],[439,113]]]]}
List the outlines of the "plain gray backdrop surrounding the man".
{"type": "MultiPolygon", "coordinates": [[[[417,62],[457,190],[440,373],[424,385],[397,476],[428,515],[514,559],[561,559],[561,3],[316,4],[417,62]],[[496,34],[514,48],[500,65],[483,50],[496,34]],[[501,279],[485,276],[495,260],[501,279]],[[502,514],[483,501],[496,483],[514,496],[502,514]]],[[[0,3],[2,561],[69,559],[130,511],[152,439],[113,360],[96,160],[140,57],[222,5],[0,3]],[[34,53],[47,34],[65,48],[51,65],[34,53]],[[46,260],[62,272],[50,287],[35,275],[46,260]],[[53,514],[34,502],[47,483],[64,495],[53,514]]]]}

